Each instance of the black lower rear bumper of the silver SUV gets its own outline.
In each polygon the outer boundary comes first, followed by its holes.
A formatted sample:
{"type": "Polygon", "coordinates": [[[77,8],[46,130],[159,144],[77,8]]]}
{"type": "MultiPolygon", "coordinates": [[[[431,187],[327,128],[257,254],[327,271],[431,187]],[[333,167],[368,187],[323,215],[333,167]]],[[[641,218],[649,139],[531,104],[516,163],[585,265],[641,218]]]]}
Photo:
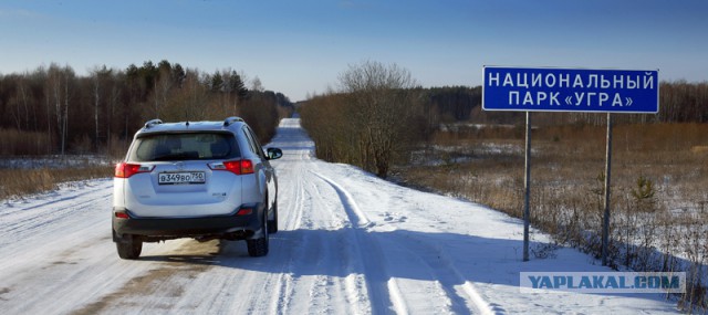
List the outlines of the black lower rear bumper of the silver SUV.
{"type": "Polygon", "coordinates": [[[127,209],[114,208],[113,241],[121,241],[125,234],[133,234],[145,242],[179,238],[249,239],[262,233],[261,204],[241,207],[228,216],[197,218],[142,218],[127,209]],[[242,209],[252,211],[238,214],[242,209]]]}

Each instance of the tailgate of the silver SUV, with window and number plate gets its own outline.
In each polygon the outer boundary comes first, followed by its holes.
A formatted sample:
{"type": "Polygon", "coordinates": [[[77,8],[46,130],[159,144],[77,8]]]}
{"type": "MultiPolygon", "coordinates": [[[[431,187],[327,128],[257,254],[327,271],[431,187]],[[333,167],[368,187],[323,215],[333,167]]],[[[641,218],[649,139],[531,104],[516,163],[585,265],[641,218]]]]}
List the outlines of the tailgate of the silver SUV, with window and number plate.
{"type": "Polygon", "coordinates": [[[240,151],[230,133],[165,133],[138,139],[133,160],[152,169],[126,182],[126,208],[143,217],[228,214],[241,204],[241,178],[212,169],[240,151]]]}

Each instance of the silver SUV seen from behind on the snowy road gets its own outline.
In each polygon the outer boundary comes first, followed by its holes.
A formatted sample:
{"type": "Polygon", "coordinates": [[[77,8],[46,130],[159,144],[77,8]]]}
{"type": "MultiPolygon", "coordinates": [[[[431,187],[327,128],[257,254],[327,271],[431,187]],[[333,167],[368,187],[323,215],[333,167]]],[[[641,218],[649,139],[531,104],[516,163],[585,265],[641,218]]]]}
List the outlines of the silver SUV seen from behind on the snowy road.
{"type": "Polygon", "coordinates": [[[113,241],[135,260],[143,242],[179,238],[246,240],[251,256],[268,254],[278,232],[278,181],[239,117],[165,124],[149,120],[115,167],[113,241]]]}

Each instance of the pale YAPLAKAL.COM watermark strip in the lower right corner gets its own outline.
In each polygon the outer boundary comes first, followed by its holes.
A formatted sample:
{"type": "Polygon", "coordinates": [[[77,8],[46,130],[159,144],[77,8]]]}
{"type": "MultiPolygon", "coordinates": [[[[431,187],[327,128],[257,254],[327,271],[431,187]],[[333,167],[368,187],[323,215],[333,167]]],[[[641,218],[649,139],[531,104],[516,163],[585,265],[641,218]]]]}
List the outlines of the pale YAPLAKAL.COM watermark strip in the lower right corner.
{"type": "Polygon", "coordinates": [[[521,272],[522,293],[685,293],[685,272],[521,272]]]}

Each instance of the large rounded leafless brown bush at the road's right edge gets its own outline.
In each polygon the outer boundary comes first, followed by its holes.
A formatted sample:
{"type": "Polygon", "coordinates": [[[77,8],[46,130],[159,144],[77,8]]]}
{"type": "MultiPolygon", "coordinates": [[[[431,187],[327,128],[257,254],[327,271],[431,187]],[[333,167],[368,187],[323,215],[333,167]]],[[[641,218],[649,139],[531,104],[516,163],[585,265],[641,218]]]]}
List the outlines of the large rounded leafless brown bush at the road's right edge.
{"type": "Polygon", "coordinates": [[[344,71],[340,84],[339,93],[314,97],[301,111],[317,157],[387,177],[426,129],[415,80],[396,64],[367,61],[344,71]]]}

